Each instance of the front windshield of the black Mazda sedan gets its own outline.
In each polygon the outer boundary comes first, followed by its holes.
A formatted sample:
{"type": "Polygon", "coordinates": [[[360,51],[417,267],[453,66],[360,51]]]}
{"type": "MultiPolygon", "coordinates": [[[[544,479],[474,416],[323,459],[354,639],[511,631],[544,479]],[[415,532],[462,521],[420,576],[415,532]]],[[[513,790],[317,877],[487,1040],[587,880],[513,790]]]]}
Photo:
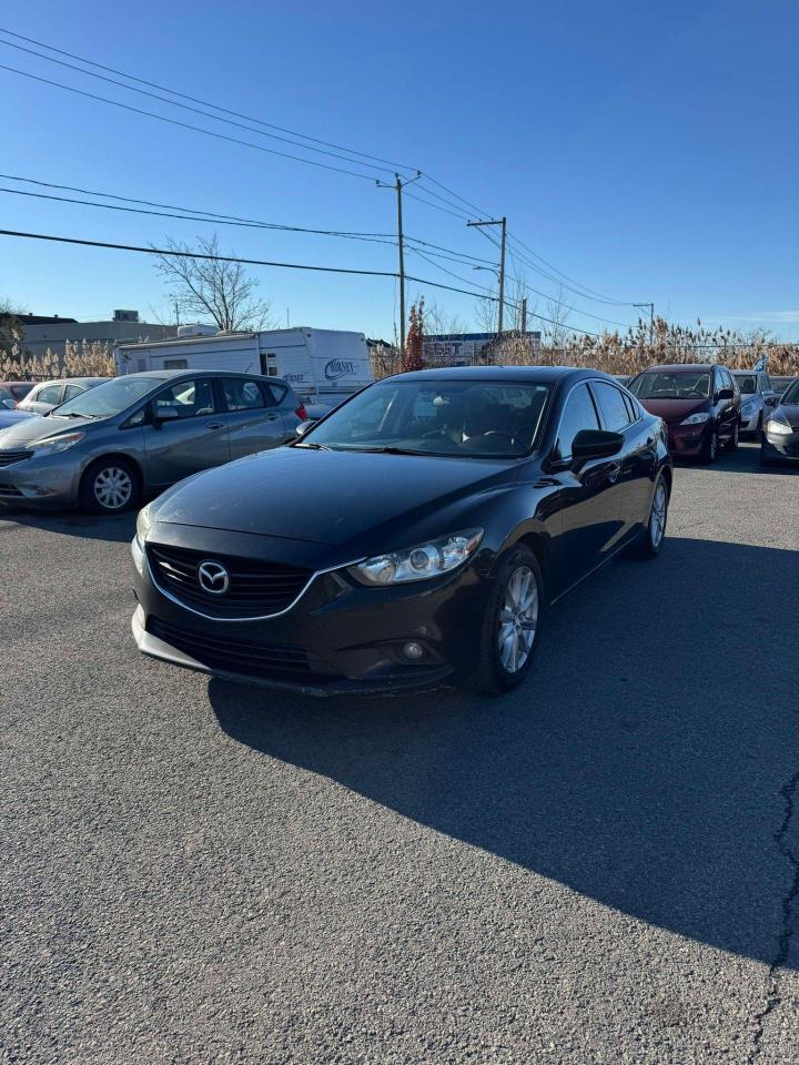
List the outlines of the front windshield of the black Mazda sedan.
{"type": "Polygon", "coordinates": [[[475,381],[390,378],[364,389],[299,447],[513,458],[538,436],[548,388],[475,381]]]}

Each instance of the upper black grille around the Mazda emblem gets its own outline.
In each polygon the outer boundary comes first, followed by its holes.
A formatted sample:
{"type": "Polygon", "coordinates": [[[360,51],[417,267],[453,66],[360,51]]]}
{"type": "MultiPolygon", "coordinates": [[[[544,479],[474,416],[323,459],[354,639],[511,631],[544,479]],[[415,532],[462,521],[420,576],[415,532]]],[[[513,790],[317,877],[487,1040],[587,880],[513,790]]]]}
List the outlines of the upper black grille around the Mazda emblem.
{"type": "Polygon", "coordinates": [[[214,618],[259,618],[285,610],[309,582],[312,570],[250,558],[232,558],[182,547],[148,544],[156,584],[186,607],[214,618]],[[230,587],[224,595],[205,591],[198,569],[203,561],[224,566],[230,587]]]}

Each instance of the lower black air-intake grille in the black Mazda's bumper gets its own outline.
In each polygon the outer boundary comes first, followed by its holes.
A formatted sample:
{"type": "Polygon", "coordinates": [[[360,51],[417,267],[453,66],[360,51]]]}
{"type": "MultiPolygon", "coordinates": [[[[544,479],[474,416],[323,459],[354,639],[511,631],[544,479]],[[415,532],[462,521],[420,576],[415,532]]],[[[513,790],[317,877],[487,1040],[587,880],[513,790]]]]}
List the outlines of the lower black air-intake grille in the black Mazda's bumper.
{"type": "Polygon", "coordinates": [[[146,620],[146,630],[209,669],[264,678],[311,676],[307,656],[301,647],[208,636],[152,616],[146,620]]]}

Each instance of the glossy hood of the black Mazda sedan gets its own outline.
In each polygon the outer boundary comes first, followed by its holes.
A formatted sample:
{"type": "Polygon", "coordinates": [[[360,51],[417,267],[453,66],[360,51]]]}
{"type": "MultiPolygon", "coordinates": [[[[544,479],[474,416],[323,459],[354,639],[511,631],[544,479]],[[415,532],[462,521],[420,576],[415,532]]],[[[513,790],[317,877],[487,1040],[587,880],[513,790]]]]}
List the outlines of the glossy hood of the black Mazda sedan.
{"type": "Polygon", "coordinates": [[[282,447],[175,485],[152,505],[152,518],[334,546],[385,526],[388,550],[406,546],[403,531],[426,517],[444,521],[454,504],[517,477],[507,460],[282,447]]]}

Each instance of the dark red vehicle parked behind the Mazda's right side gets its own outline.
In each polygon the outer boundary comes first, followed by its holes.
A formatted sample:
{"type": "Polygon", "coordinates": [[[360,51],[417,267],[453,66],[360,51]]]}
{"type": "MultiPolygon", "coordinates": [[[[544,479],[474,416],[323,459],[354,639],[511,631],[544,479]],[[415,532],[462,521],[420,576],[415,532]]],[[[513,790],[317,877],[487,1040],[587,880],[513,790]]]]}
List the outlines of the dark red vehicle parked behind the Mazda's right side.
{"type": "Polygon", "coordinates": [[[740,388],[726,366],[653,366],[627,387],[649,414],[664,419],[675,458],[714,463],[720,447],[738,447],[740,388]]]}

